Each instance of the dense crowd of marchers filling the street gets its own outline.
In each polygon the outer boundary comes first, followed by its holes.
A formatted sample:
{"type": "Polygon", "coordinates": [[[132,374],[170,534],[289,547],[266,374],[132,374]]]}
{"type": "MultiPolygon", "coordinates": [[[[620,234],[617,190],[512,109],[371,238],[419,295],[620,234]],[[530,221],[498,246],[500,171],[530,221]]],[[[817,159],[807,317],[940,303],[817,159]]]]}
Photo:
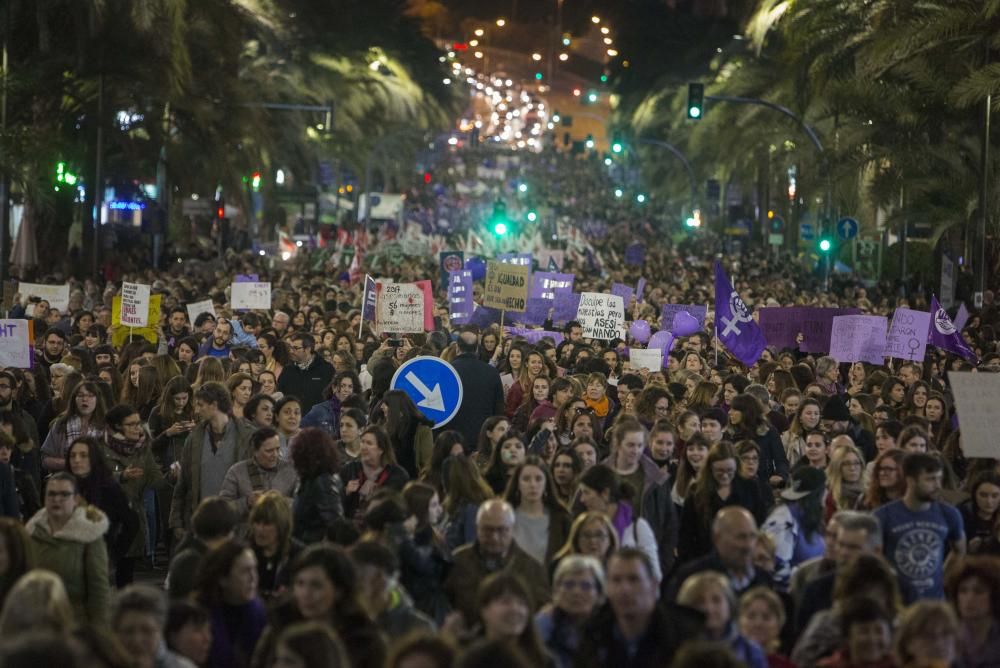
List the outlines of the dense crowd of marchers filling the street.
{"type": "MultiPolygon", "coordinates": [[[[524,166],[546,206],[621,213],[558,160],[524,166]]],[[[641,276],[628,318],[650,322],[712,301],[710,243],[630,265],[625,236],[567,254],[576,290],[641,276]]],[[[724,261],[751,305],[926,307],[724,261]]],[[[963,454],[949,390],[968,361],[769,347],[748,368],[710,310],[650,371],[576,321],[453,327],[443,290],[433,331],[376,334],[342,269],[137,273],[161,295],[148,338],[113,326],[117,283],[71,279],[68,309],[19,295],[40,335],[0,370],[0,666],[1000,666],[1000,466],[963,454]],[[271,309],[234,312],[251,272],[271,309]],[[392,385],[420,355],[464,388],[437,428],[392,385]]],[[[977,372],[1000,371],[998,323],[987,294],[977,372]]]]}

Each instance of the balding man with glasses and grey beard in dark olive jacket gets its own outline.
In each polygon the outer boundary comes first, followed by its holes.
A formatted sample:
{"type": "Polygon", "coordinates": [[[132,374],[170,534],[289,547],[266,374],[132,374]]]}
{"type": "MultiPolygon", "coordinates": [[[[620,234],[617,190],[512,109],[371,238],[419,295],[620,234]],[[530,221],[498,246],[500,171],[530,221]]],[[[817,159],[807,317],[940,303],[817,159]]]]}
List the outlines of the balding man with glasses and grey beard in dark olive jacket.
{"type": "Polygon", "coordinates": [[[467,626],[476,623],[479,583],[499,571],[514,573],[531,593],[533,610],[549,600],[545,569],[514,542],[514,509],[503,499],[490,499],[476,513],[476,542],[455,550],[454,564],[444,583],[451,607],[467,626]]]}

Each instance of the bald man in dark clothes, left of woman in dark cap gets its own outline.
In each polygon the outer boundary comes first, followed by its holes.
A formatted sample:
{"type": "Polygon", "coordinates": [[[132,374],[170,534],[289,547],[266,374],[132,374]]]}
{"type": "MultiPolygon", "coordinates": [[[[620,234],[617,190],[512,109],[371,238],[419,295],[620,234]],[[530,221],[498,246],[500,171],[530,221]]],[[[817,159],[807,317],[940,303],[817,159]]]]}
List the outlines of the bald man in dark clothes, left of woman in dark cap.
{"type": "Polygon", "coordinates": [[[737,596],[757,585],[770,587],[771,576],[754,568],[753,550],[756,545],[757,521],[750,511],[741,506],[722,508],[712,522],[712,552],[678,569],[667,589],[667,600],[676,599],[684,580],[704,571],[725,575],[737,596]]]}

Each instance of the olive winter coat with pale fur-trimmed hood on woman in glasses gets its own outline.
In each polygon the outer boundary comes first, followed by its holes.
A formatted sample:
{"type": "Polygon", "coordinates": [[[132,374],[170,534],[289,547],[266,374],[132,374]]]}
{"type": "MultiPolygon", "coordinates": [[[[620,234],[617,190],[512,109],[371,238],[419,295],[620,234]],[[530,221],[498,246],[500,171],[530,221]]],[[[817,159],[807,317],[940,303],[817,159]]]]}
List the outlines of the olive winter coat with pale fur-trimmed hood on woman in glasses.
{"type": "Polygon", "coordinates": [[[42,508],[25,528],[35,551],[35,567],[59,576],[76,619],[107,626],[111,609],[108,550],[104,545],[107,516],[94,506],[77,506],[66,525],[52,533],[48,511],[42,508]]]}

